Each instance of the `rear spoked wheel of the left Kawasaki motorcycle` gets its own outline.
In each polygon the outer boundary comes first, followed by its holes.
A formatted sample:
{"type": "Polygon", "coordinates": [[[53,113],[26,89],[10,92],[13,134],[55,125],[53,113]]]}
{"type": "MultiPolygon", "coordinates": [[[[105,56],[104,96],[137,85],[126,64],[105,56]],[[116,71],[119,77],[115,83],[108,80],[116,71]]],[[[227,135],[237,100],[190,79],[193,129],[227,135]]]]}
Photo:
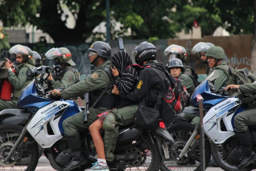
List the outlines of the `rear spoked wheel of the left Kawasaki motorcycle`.
{"type": "Polygon", "coordinates": [[[136,146],[125,151],[125,154],[132,154],[135,158],[131,161],[124,161],[125,171],[159,171],[161,165],[160,152],[156,141],[152,143],[149,135],[143,136],[136,141],[136,146]]]}

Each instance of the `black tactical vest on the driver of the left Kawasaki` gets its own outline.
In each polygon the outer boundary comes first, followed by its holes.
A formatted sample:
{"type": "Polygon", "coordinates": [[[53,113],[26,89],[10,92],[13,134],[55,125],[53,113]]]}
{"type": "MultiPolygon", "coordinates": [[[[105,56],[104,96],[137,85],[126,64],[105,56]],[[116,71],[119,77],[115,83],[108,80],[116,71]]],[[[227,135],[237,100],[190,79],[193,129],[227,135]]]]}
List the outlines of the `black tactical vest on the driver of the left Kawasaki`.
{"type": "MultiPolygon", "coordinates": [[[[118,105],[118,101],[119,101],[119,96],[115,95],[111,92],[113,89],[113,85],[114,85],[114,77],[112,75],[111,69],[108,67],[104,67],[99,70],[103,70],[104,72],[106,72],[106,74],[108,75],[108,78],[110,80],[110,83],[109,83],[110,86],[109,86],[108,90],[104,93],[104,95],[100,98],[98,103],[96,103],[94,108],[104,107],[107,109],[112,109],[118,105]]],[[[96,91],[90,92],[90,106],[92,106],[94,104],[94,102],[96,101],[96,99],[98,99],[98,97],[100,96],[102,91],[104,91],[104,90],[96,90],[96,91]]]]}

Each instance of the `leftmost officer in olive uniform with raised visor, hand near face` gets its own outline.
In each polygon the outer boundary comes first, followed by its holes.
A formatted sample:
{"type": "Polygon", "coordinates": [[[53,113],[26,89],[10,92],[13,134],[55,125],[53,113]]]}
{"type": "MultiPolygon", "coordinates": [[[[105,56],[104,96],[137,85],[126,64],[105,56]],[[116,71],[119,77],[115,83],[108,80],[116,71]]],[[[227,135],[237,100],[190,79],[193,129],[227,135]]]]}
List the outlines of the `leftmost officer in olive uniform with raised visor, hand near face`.
{"type": "Polygon", "coordinates": [[[3,109],[17,108],[16,105],[22,90],[32,81],[32,79],[27,78],[26,72],[35,67],[35,60],[32,58],[32,50],[27,46],[15,45],[10,48],[9,53],[16,55],[18,71],[16,73],[12,71],[13,63],[4,63],[4,66],[8,69],[7,79],[12,84],[14,91],[10,101],[0,99],[0,111],[3,109]]]}

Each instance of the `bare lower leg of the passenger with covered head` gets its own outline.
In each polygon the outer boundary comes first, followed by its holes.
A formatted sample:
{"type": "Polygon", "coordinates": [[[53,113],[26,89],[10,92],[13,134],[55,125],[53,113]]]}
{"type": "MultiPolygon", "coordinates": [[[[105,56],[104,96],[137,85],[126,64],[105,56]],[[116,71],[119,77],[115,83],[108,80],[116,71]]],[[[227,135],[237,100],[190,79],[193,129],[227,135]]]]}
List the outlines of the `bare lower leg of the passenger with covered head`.
{"type": "Polygon", "coordinates": [[[90,125],[89,130],[90,130],[90,133],[92,136],[94,146],[96,148],[98,159],[106,159],[104,143],[103,143],[103,139],[100,135],[100,130],[102,130],[102,123],[101,123],[100,119],[97,119],[96,121],[94,121],[94,123],[92,123],[90,125]]]}

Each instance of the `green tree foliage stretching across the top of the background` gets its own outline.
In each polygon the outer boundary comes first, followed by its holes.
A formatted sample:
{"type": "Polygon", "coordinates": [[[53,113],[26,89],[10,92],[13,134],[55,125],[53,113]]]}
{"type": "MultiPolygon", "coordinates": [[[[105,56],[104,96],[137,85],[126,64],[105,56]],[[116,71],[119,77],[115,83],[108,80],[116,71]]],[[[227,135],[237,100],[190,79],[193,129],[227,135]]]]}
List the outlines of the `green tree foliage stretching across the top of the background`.
{"type": "MultiPolygon", "coordinates": [[[[105,33],[92,30],[106,20],[106,0],[0,0],[0,20],[4,26],[30,23],[50,34],[55,42],[102,40],[105,33]],[[65,10],[69,10],[67,14],[65,10]],[[64,15],[65,14],[65,15],[64,15]],[[68,16],[74,28],[66,26],[68,16]]],[[[202,36],[212,35],[218,26],[232,34],[250,34],[254,22],[253,1],[242,0],[111,0],[111,39],[174,38],[189,32],[194,21],[202,36]],[[116,22],[122,25],[116,30],[116,22]],[[127,36],[130,30],[131,36],[127,36]]]]}

